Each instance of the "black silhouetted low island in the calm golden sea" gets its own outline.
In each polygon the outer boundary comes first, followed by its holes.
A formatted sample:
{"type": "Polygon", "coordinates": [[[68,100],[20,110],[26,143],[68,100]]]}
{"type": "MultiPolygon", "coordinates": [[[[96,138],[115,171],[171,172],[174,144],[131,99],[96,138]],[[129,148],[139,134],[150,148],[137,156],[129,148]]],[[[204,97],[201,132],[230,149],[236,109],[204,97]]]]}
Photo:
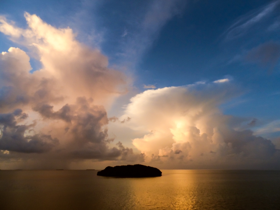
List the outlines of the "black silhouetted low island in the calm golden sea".
{"type": "Polygon", "coordinates": [[[156,177],[161,176],[161,174],[162,172],[159,169],[141,164],[108,166],[104,170],[97,172],[97,176],[111,177],[156,177]]]}

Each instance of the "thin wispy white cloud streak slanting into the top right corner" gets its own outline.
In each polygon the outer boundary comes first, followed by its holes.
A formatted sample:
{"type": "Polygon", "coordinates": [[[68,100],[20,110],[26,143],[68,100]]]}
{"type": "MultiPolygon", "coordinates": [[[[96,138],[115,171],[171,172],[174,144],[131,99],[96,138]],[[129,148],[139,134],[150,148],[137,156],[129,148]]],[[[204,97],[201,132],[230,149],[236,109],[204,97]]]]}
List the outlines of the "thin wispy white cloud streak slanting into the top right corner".
{"type": "Polygon", "coordinates": [[[259,10],[246,14],[239,18],[234,24],[232,24],[229,29],[225,32],[226,38],[228,40],[239,38],[246,34],[248,30],[253,27],[255,24],[262,21],[265,17],[270,15],[277,6],[279,6],[280,1],[273,1],[268,5],[260,8],[259,10]]]}

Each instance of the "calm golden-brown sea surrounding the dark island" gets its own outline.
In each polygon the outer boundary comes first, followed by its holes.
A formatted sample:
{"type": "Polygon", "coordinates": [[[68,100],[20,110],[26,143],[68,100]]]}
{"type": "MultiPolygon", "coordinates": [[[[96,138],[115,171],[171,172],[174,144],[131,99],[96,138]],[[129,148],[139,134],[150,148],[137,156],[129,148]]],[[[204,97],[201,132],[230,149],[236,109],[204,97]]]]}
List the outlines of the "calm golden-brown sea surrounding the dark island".
{"type": "Polygon", "coordinates": [[[111,178],[97,170],[0,170],[0,209],[280,209],[280,171],[161,171],[111,178]]]}

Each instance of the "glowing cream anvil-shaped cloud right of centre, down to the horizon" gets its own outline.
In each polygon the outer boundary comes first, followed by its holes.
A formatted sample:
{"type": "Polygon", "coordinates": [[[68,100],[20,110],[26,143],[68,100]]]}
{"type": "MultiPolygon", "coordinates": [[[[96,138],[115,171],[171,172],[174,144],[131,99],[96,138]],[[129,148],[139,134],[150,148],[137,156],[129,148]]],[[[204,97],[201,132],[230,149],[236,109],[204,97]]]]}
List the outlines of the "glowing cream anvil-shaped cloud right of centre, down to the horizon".
{"type": "Polygon", "coordinates": [[[131,117],[131,129],[146,131],[133,144],[155,166],[279,169],[280,151],[270,140],[235,130],[244,120],[219,110],[237,94],[230,83],[146,90],[131,99],[123,117],[131,117]]]}

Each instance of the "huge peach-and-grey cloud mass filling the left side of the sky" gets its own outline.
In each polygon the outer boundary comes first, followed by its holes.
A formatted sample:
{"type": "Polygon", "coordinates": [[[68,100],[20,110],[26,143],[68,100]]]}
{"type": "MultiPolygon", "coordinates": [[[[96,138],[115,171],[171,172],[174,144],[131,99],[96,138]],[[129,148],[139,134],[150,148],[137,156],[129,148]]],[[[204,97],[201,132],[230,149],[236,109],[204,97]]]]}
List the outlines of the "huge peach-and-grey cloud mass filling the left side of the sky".
{"type": "Polygon", "coordinates": [[[70,28],[24,17],[26,29],[0,17],[0,31],[27,47],[42,69],[30,73],[30,57],[20,48],[0,54],[0,150],[136,160],[129,148],[110,144],[106,128],[105,107],[127,91],[126,76],[108,68],[107,57],[79,43],[70,28]]]}

